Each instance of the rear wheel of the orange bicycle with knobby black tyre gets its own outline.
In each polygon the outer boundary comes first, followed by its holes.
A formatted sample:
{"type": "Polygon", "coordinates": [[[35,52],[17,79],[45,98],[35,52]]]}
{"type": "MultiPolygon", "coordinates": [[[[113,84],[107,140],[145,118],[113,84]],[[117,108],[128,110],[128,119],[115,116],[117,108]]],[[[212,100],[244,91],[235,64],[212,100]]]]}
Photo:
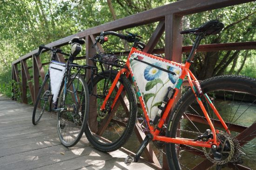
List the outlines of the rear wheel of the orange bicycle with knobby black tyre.
{"type": "MultiPolygon", "coordinates": [[[[223,133],[224,128],[220,128],[217,120],[213,121],[213,124],[216,125],[215,128],[222,130],[222,133],[224,134],[218,134],[218,140],[226,139],[228,141],[226,142],[229,144],[228,146],[221,146],[223,150],[228,150],[228,153],[225,154],[223,152],[221,161],[215,161],[211,155],[211,150],[208,150],[208,153],[204,152],[202,147],[169,143],[166,144],[166,155],[169,168],[171,170],[187,170],[193,168],[213,168],[219,170],[224,167],[240,169],[240,166],[245,166],[249,169],[255,169],[256,154],[253,150],[256,150],[256,139],[241,138],[242,130],[238,131],[237,128],[239,126],[237,125],[240,125],[240,127],[244,126],[243,130],[248,131],[248,133],[251,132],[251,130],[249,130],[251,124],[255,126],[256,116],[255,112],[251,110],[256,109],[256,79],[234,75],[219,76],[203,81],[201,87],[202,91],[207,93],[209,98],[211,98],[212,103],[221,114],[223,120],[230,123],[227,125],[231,135],[227,135],[225,132],[223,133]],[[240,137],[237,136],[239,134],[240,137]],[[245,139],[246,141],[244,141],[245,139]],[[234,147],[234,150],[231,149],[232,147],[234,147]]],[[[201,99],[210,118],[216,119],[213,117],[214,114],[211,108],[209,108],[209,104],[203,97],[201,99]]],[[[210,129],[209,125],[206,125],[207,122],[204,123],[205,119],[203,120],[199,117],[195,118],[196,116],[203,115],[201,108],[197,108],[198,103],[195,101],[195,95],[192,90],[189,89],[189,91],[177,102],[170,115],[166,137],[175,138],[180,136],[192,139],[195,137],[196,139],[200,133],[204,133],[206,128],[210,129]],[[194,119],[189,114],[192,114],[194,119]]],[[[254,133],[255,131],[250,134],[255,135],[254,133]]]]}

